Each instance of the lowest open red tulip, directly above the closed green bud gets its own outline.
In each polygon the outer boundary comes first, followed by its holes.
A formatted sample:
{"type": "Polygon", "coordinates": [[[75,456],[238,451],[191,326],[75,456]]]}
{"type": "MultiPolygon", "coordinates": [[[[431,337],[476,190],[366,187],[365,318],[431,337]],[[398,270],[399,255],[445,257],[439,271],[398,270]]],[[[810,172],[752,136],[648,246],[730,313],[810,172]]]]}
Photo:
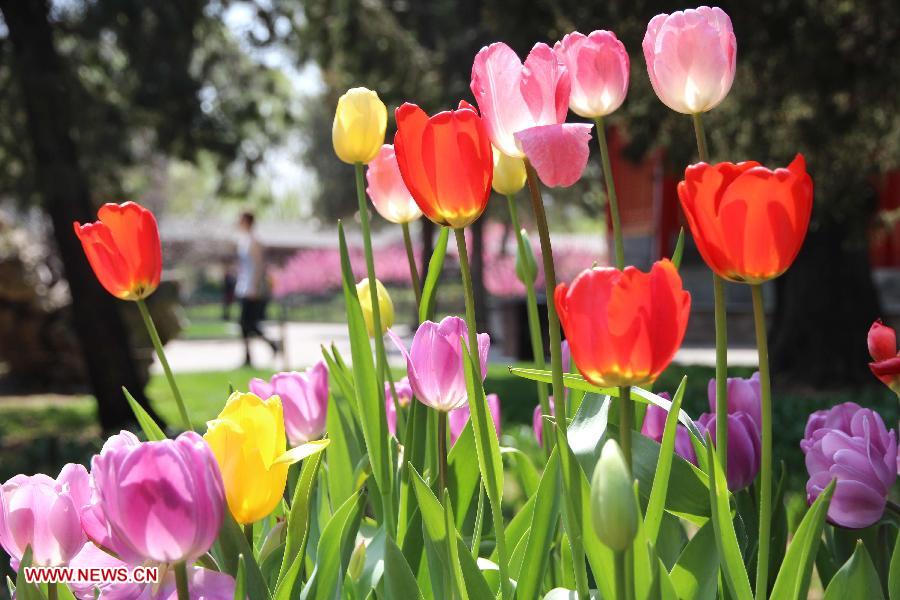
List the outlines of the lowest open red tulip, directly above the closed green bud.
{"type": "Polygon", "coordinates": [[[601,386],[652,383],[684,339],[691,295],[668,260],[583,271],[556,287],[559,320],[584,378],[601,386]]]}

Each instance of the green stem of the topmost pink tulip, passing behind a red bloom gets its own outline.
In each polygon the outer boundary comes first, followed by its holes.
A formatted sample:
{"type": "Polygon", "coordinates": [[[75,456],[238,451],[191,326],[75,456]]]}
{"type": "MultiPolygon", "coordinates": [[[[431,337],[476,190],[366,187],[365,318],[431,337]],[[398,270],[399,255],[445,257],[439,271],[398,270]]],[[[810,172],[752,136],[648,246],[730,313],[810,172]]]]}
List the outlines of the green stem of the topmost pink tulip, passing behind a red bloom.
{"type": "MultiPolygon", "coordinates": [[[[709,161],[703,116],[693,115],[697,154],[702,162],[709,161]]],[[[716,458],[722,470],[728,472],[728,315],[726,313],[725,282],[713,273],[713,301],[716,328],[716,458]]]]}

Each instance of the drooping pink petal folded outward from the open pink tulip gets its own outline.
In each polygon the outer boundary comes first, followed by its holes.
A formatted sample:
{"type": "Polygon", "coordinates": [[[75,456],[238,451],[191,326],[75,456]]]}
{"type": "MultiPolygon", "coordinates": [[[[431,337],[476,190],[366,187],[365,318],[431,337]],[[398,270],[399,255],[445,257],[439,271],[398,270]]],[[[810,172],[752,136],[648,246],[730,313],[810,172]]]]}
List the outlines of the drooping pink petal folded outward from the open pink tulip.
{"type": "Polygon", "coordinates": [[[569,187],[581,179],[593,125],[565,123],[520,131],[516,141],[538,177],[549,187],[569,187]]]}

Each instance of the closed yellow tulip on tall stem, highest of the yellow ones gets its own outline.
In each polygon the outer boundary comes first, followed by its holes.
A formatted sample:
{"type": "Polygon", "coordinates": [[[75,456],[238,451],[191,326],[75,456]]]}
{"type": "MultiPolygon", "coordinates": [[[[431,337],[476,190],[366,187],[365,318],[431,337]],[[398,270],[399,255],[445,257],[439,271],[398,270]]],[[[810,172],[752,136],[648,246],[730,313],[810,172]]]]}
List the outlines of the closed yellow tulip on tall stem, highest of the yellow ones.
{"type": "Polygon", "coordinates": [[[387,107],[376,92],[366,88],[347,90],[334,113],[334,152],[345,163],[367,164],[381,150],[386,128],[387,107]]]}

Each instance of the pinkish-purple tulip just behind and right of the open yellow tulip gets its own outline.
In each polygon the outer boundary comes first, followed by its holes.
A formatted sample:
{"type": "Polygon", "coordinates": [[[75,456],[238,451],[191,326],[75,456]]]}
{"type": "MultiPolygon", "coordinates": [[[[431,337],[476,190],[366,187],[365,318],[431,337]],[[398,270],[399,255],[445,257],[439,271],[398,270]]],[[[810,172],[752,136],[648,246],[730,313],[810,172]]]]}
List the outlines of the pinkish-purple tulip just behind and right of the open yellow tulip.
{"type": "Polygon", "coordinates": [[[276,373],[271,382],[250,380],[250,391],[268,400],[281,398],[284,428],[291,446],[317,440],[325,433],[328,414],[328,367],[319,361],[306,371],[276,373]]]}

